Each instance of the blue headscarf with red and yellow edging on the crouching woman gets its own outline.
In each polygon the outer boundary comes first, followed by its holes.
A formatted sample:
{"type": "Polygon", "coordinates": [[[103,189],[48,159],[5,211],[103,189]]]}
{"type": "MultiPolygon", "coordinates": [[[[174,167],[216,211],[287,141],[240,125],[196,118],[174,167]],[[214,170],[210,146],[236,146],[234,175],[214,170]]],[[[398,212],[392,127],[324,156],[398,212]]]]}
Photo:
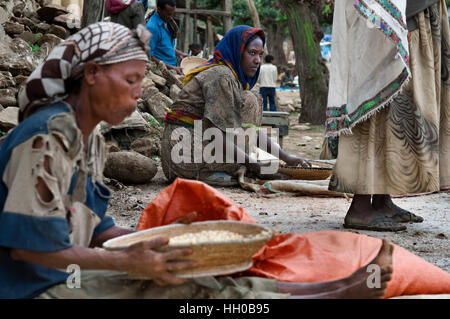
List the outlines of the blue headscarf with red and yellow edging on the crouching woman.
{"type": "Polygon", "coordinates": [[[183,84],[186,85],[197,73],[203,70],[224,64],[233,71],[234,76],[241,82],[245,90],[251,90],[258,81],[260,68],[258,68],[258,71],[252,78],[249,78],[242,72],[241,59],[245,46],[254,35],[258,35],[261,38],[264,46],[266,35],[262,29],[252,28],[247,25],[238,25],[231,28],[217,44],[213,58],[189,71],[183,84]]]}

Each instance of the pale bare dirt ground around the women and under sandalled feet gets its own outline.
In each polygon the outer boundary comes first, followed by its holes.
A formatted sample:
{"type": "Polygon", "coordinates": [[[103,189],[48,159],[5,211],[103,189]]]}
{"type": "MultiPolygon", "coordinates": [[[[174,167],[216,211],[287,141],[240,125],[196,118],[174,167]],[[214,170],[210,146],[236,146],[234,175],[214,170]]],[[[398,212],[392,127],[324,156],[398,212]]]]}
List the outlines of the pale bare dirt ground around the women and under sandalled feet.
{"type": "MultiPolygon", "coordinates": [[[[290,93],[286,93],[290,94],[290,93]]],[[[292,93],[291,93],[292,94],[292,93]]],[[[291,154],[318,159],[323,140],[323,127],[298,126],[298,114],[291,113],[289,135],[283,148],[291,154]]],[[[114,189],[108,213],[119,226],[135,228],[142,210],[169,184],[159,165],[158,173],[147,185],[114,189]]],[[[353,231],[393,243],[421,256],[432,264],[450,272],[450,195],[440,192],[423,196],[395,198],[402,208],[424,218],[423,223],[408,224],[400,232],[354,231],[342,224],[350,201],[326,197],[266,198],[238,187],[218,190],[236,205],[243,207],[259,224],[281,233],[303,233],[320,230],[353,231]]]]}

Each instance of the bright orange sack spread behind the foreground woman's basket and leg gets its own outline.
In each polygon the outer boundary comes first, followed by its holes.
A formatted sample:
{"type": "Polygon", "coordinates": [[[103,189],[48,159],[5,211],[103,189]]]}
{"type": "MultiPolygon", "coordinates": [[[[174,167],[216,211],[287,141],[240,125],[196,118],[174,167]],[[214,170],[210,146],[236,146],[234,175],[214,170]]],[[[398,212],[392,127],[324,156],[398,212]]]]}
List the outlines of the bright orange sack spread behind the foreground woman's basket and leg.
{"type": "MultiPolygon", "coordinates": [[[[196,221],[239,220],[256,223],[215,188],[177,178],[144,209],[137,230],[163,226],[197,212],[196,221]]],[[[450,274],[394,245],[392,280],[385,298],[450,293],[450,274]]],[[[324,282],[349,276],[378,253],[378,238],[342,231],[278,234],[253,256],[244,275],[289,282],[324,282]]]]}

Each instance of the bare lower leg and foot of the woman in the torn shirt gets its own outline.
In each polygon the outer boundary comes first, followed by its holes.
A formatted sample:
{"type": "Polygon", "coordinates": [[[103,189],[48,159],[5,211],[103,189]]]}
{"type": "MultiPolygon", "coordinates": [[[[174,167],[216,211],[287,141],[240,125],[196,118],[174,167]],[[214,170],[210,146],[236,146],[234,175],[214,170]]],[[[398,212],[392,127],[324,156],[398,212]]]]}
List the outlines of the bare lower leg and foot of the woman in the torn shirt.
{"type": "Polygon", "coordinates": [[[392,278],[394,246],[383,240],[377,256],[347,278],[322,283],[279,283],[280,292],[304,299],[381,298],[392,278]]]}

